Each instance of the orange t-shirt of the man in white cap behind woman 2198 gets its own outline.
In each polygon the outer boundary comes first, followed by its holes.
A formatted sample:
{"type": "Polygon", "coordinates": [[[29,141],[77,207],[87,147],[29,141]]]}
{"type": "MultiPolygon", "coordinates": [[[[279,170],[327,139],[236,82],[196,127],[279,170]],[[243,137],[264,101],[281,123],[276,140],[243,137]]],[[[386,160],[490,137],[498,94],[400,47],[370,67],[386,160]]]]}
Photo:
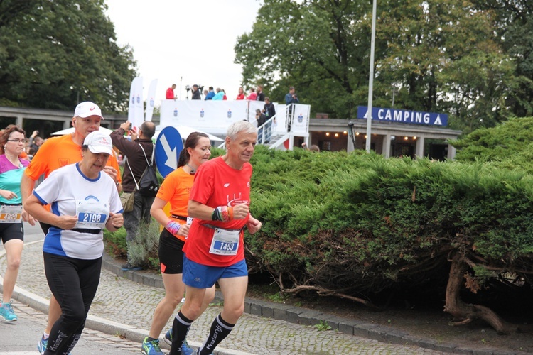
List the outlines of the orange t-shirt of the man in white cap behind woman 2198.
{"type": "MultiPolygon", "coordinates": [[[[82,160],[82,147],[72,141],[72,135],[65,134],[65,136],[47,139],[31,160],[28,168],[24,170],[24,173],[34,181],[43,174],[45,178],[48,178],[48,175],[53,170],[77,163],[80,160],[82,160]]],[[[114,155],[109,157],[107,165],[117,170],[117,181],[122,182],[119,163],[114,155]]]]}

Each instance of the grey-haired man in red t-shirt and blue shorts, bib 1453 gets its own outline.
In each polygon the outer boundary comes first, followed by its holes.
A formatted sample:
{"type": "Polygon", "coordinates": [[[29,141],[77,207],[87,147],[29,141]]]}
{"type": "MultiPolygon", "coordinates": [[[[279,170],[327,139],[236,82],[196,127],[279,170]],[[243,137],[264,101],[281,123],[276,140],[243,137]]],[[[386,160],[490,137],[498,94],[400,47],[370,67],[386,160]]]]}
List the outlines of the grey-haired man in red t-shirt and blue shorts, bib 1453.
{"type": "Polygon", "coordinates": [[[188,217],[193,217],[183,247],[185,304],[172,325],[171,355],[181,346],[191,324],[201,315],[205,293],[215,283],[224,297],[222,312],[212,322],[208,339],[197,354],[212,354],[244,312],[248,268],[244,228],[254,234],[262,223],[249,213],[252,165],[257,128],[235,121],[227,129],[227,152],[198,168],[190,191],[188,217]]]}

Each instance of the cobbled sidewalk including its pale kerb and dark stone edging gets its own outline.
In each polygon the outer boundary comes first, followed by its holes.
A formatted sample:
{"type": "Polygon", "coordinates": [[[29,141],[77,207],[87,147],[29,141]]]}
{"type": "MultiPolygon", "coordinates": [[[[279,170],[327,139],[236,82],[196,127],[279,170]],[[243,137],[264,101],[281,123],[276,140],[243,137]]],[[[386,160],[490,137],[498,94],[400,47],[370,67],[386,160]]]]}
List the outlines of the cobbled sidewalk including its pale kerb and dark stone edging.
{"type": "MultiPolygon", "coordinates": [[[[50,290],[41,248],[42,241],[26,244],[14,298],[46,312],[50,290]]],[[[5,269],[6,258],[0,255],[0,275],[4,275],[5,269]]],[[[112,258],[104,258],[87,328],[120,334],[138,342],[140,349],[154,309],[164,295],[164,290],[157,287],[161,285],[161,277],[155,273],[124,272],[112,258]]],[[[205,340],[212,320],[221,310],[220,303],[215,302],[193,323],[188,334],[192,346],[200,346],[205,340]]],[[[412,337],[389,327],[282,304],[247,299],[245,310],[233,332],[217,348],[217,354],[494,354],[490,349],[463,349],[412,337]],[[319,331],[313,327],[324,321],[333,329],[319,331]]],[[[172,318],[168,327],[171,322],[172,318]]]]}

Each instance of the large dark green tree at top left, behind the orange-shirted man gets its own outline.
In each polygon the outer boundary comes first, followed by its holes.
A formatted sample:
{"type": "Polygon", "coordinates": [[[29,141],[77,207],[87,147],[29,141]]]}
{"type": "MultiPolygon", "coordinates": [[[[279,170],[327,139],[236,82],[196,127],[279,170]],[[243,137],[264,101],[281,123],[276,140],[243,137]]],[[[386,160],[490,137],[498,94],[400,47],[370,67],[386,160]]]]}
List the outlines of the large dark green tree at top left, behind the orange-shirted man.
{"type": "Polygon", "coordinates": [[[126,111],[136,75],[104,0],[0,0],[0,104],[126,111]]]}

